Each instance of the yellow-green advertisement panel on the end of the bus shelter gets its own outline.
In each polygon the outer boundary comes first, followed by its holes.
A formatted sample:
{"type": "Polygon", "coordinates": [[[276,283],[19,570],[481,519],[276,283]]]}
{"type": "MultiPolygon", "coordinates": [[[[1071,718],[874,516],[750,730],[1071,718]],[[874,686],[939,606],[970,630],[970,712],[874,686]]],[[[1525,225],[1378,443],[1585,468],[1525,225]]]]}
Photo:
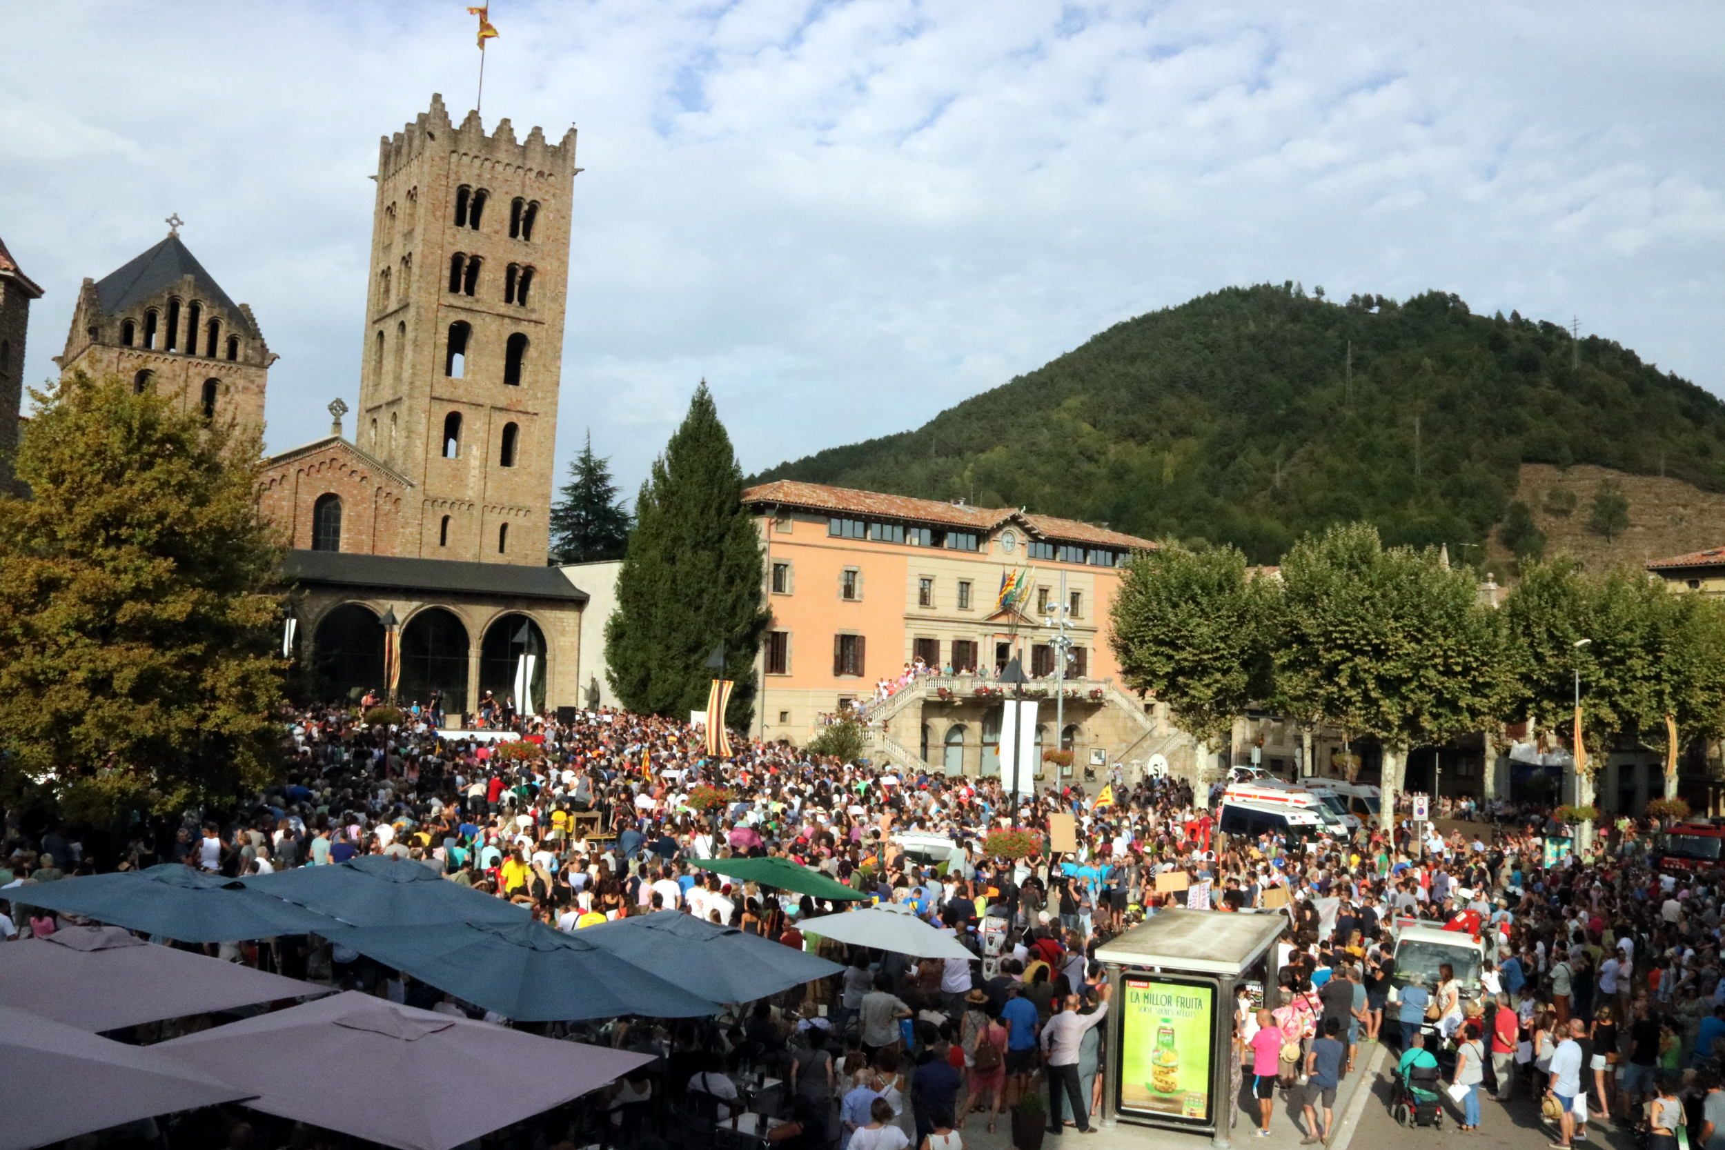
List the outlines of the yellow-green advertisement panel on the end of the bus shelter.
{"type": "Polygon", "coordinates": [[[1121,978],[1120,1112],[1214,1126],[1216,983],[1121,978]]]}

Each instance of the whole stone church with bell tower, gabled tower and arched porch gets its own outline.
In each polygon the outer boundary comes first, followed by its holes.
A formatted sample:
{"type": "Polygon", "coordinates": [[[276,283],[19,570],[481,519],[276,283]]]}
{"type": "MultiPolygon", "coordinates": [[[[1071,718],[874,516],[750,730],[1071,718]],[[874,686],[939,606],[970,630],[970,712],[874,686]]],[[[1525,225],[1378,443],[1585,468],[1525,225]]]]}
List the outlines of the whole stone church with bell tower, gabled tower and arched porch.
{"type": "MultiPolygon", "coordinates": [[[[536,710],[583,702],[586,595],[547,566],[574,129],[516,140],[442,97],[380,145],[354,436],[271,455],[259,509],[286,545],[295,671],[323,698],[385,688],[398,628],[397,698],[443,700],[452,722],[485,693],[536,710]],[[521,700],[516,698],[519,703],[521,700]]],[[[178,219],[169,221],[178,226],[178,219]]],[[[0,410],[17,410],[29,300],[0,247],[0,410]]],[[[181,410],[262,433],[269,350],[178,234],[74,303],[62,372],[119,374],[181,410]]],[[[0,421],[0,450],[16,421],[0,421]]],[[[9,476],[0,476],[7,479],[9,476]]]]}

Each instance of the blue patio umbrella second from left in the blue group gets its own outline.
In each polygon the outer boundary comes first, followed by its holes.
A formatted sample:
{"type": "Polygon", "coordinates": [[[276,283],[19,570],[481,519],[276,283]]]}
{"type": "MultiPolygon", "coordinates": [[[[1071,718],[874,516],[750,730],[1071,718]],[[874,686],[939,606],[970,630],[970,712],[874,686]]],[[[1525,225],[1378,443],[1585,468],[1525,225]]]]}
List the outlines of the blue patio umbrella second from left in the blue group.
{"type": "MultiPolygon", "coordinates": [[[[528,909],[450,883],[414,859],[362,855],[335,866],[254,874],[247,888],[298,903],[350,926],[526,922],[528,909]]],[[[317,931],[324,934],[326,931],[317,931]]]]}

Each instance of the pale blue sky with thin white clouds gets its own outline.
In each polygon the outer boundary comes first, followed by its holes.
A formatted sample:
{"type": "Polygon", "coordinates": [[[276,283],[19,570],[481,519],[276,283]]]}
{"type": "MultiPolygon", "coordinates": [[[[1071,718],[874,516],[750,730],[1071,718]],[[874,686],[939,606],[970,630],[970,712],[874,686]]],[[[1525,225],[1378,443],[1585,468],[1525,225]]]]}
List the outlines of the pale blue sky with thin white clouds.
{"type": "MultiPolygon", "coordinates": [[[[495,0],[485,122],[580,128],[561,459],[626,491],[706,376],[745,469],[919,424],[1225,284],[1456,291],[1725,391],[1725,5],[495,0]]],[[[16,21],[14,21],[16,24],[16,21]]],[[[354,403],[378,136],[471,107],[466,0],[31,5],[0,236],[48,291],[183,236],[354,403]]],[[[14,31],[22,31],[14,28],[14,31]]]]}

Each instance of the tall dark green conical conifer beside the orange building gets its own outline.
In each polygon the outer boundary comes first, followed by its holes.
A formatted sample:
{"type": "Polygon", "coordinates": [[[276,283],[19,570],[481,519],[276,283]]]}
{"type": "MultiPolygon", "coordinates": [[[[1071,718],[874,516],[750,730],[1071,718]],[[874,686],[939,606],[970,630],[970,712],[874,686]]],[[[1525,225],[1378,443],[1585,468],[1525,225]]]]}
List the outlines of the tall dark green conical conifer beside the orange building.
{"type": "Polygon", "coordinates": [[[635,500],[635,529],[605,624],[607,678],[630,710],[687,716],[707,705],[712,648],[735,679],[726,721],[754,714],[754,659],[766,633],[761,536],[742,503],[743,472],[702,379],[688,416],[635,500]]]}

